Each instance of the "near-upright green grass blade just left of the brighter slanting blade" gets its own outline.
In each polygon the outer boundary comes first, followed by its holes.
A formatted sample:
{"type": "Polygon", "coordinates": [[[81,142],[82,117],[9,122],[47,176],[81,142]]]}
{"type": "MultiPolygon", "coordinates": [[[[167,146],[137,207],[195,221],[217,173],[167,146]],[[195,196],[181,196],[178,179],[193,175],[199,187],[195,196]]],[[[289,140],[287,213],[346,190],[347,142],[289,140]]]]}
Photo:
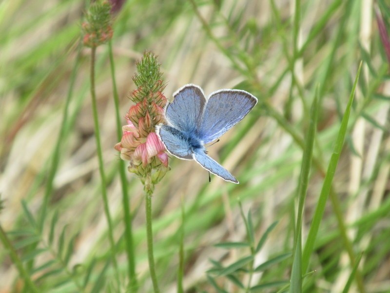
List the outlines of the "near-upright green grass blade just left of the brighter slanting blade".
{"type": "Polygon", "coordinates": [[[312,165],[313,144],[315,131],[317,127],[319,96],[318,87],[312,104],[310,115],[310,125],[307,135],[307,141],[302,158],[301,174],[298,183],[298,213],[296,219],[296,228],[294,236],[293,263],[290,282],[290,292],[302,292],[302,217],[303,208],[306,200],[306,193],[309,184],[310,167],[312,165]]]}

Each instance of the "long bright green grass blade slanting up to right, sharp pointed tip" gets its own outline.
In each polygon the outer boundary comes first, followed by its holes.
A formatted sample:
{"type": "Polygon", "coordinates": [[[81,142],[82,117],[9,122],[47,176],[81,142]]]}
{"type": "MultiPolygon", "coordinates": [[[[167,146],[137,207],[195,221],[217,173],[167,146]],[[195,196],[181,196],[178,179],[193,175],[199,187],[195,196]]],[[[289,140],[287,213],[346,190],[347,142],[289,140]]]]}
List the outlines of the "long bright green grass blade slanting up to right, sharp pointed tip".
{"type": "Polygon", "coordinates": [[[315,239],[316,239],[317,234],[318,234],[318,230],[319,230],[322,216],[324,215],[326,201],[327,201],[329,193],[331,192],[331,186],[332,186],[331,183],[333,180],[334,173],[336,171],[338,159],[340,157],[340,154],[341,154],[341,151],[343,148],[345,135],[347,133],[348,120],[349,120],[349,117],[351,114],[352,102],[353,102],[356,84],[357,84],[357,81],[358,81],[358,78],[360,75],[361,68],[362,68],[362,62],[360,62],[359,69],[357,71],[356,78],[355,78],[355,81],[353,83],[351,95],[350,95],[350,98],[349,98],[349,101],[347,104],[347,108],[345,110],[343,119],[341,121],[341,125],[340,125],[340,129],[339,129],[339,132],[337,135],[336,143],[335,143],[335,146],[333,148],[333,153],[331,155],[331,160],[329,162],[328,170],[327,170],[327,173],[326,173],[326,176],[324,179],[324,183],[323,183],[321,193],[320,193],[320,196],[318,199],[318,203],[317,203],[317,206],[316,206],[316,209],[314,212],[314,216],[312,219],[312,225],[310,227],[309,235],[308,235],[308,238],[306,240],[305,248],[303,250],[303,254],[302,254],[302,272],[303,273],[306,273],[308,268],[309,268],[310,256],[312,255],[315,239]]]}

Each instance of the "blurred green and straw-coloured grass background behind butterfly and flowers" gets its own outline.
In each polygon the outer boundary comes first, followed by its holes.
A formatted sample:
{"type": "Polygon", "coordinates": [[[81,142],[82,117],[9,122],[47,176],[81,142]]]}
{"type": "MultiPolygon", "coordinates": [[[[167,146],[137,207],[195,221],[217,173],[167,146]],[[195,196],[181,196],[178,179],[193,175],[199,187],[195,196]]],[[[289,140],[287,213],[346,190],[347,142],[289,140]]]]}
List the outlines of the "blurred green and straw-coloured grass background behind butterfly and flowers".
{"type": "MultiPolygon", "coordinates": [[[[171,171],[156,185],[153,229],[162,292],[176,292],[182,205],[186,212],[184,288],[188,293],[217,292],[207,280],[210,259],[229,264],[243,254],[213,246],[245,239],[238,200],[245,213],[252,213],[257,239],[278,220],[255,264],[292,251],[300,141],[307,131],[315,88],[319,87],[321,108],[314,156],[321,158],[326,170],[361,60],[363,69],[333,186],[353,249],[356,255],[364,251],[360,273],[366,292],[390,292],[390,85],[386,47],[375,17],[376,9],[389,27],[388,4],[379,0],[124,1],[114,20],[112,40],[123,124],[131,106],[129,93],[135,89],[136,61],[146,50],[158,55],[168,99],[187,83],[200,85],[206,95],[221,88],[238,88],[259,99],[242,122],[208,149],[210,156],[237,177],[239,185],[216,176],[209,183],[207,172],[194,161],[175,157],[169,161],[171,171]],[[295,13],[296,2],[300,15],[295,13]],[[299,26],[294,25],[296,17],[299,26]]],[[[44,292],[95,292],[93,285],[83,290],[76,285],[82,283],[78,273],[88,268],[92,284],[99,278],[106,281],[96,292],[110,292],[114,273],[108,260],[89,94],[90,49],[79,50],[87,6],[76,0],[0,2],[0,223],[44,292]],[[59,164],[53,169],[64,115],[59,164]],[[50,182],[47,220],[39,232],[31,224],[39,217],[50,182]],[[58,217],[55,229],[51,229],[53,217],[58,217]],[[71,239],[74,245],[69,245],[71,239]],[[42,248],[41,253],[32,254],[31,245],[42,248]],[[64,262],[61,251],[67,247],[64,262]]],[[[98,47],[96,71],[109,208],[125,284],[123,207],[107,45],[98,47]]],[[[127,177],[139,292],[152,292],[142,185],[136,176],[128,173],[127,177]]],[[[323,174],[313,166],[304,239],[322,182],[323,174]]],[[[291,258],[286,259],[255,274],[254,284],[289,280],[291,263],[291,258]]],[[[309,270],[316,272],[305,292],[341,292],[351,273],[331,204],[309,270]]],[[[226,279],[216,281],[229,293],[244,292],[226,279]]],[[[0,245],[0,292],[28,292],[22,284],[9,251],[0,245]]],[[[353,286],[350,292],[357,292],[353,286]]]]}

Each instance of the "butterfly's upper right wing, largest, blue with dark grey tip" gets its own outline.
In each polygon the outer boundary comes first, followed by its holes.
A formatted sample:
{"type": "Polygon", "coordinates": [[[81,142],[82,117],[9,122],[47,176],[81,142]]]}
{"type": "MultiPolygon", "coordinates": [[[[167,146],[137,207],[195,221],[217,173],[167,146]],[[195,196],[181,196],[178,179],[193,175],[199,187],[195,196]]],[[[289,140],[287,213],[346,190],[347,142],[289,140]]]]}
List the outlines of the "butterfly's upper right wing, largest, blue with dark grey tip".
{"type": "Polygon", "coordinates": [[[240,122],[256,105],[257,98],[241,90],[219,90],[211,94],[198,137],[209,143],[240,122]]]}

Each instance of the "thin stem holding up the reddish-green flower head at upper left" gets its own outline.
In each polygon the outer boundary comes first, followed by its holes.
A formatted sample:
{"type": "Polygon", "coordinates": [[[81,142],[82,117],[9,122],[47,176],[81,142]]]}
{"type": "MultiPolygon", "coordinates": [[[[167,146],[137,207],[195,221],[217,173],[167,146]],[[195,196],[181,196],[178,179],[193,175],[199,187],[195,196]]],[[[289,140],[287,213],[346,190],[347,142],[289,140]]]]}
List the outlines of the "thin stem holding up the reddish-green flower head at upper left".
{"type": "Polygon", "coordinates": [[[99,173],[100,173],[100,180],[101,180],[101,195],[103,197],[104,213],[106,215],[107,224],[108,224],[108,239],[110,241],[110,246],[111,246],[111,257],[112,257],[112,262],[114,264],[117,284],[119,286],[119,284],[120,284],[119,273],[118,273],[118,265],[117,265],[117,258],[116,258],[114,235],[113,235],[114,229],[113,229],[112,219],[111,219],[111,215],[110,215],[110,209],[109,209],[109,205],[108,205],[106,175],[104,173],[103,153],[101,150],[101,143],[100,143],[98,107],[97,107],[97,103],[96,103],[96,93],[95,93],[95,59],[96,59],[96,47],[94,46],[91,48],[91,72],[90,72],[90,74],[91,74],[90,78],[91,78],[92,112],[94,115],[96,148],[97,148],[97,153],[98,153],[99,173]]]}

